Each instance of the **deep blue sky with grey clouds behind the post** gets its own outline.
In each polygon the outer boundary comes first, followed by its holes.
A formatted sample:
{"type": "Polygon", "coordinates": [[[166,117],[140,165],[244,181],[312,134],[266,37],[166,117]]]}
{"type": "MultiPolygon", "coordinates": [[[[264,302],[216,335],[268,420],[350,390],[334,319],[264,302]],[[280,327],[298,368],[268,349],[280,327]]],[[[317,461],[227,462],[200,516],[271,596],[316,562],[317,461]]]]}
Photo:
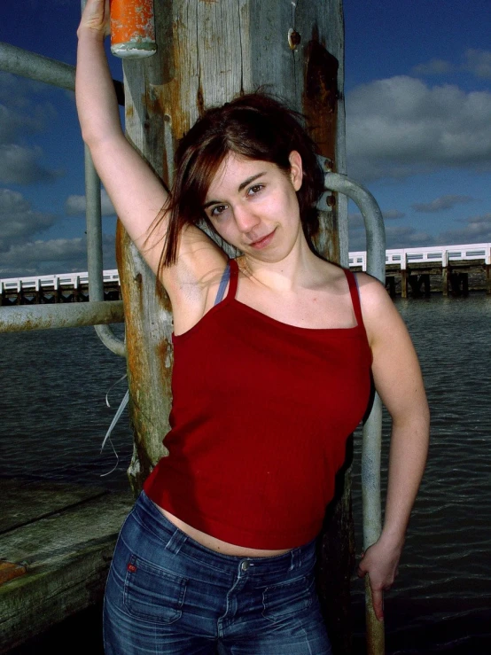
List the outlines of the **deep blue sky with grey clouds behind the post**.
{"type": "MultiPolygon", "coordinates": [[[[347,172],[378,200],[387,247],[491,242],[490,0],[345,0],[344,12],[347,172]]],[[[0,41],[74,65],[79,17],[79,0],[3,2],[0,41]]],[[[0,277],[86,270],[83,194],[74,94],[0,72],[0,277]]],[[[113,269],[104,195],[103,214],[113,269]]],[[[363,250],[351,203],[349,225],[349,250],[363,250]]]]}

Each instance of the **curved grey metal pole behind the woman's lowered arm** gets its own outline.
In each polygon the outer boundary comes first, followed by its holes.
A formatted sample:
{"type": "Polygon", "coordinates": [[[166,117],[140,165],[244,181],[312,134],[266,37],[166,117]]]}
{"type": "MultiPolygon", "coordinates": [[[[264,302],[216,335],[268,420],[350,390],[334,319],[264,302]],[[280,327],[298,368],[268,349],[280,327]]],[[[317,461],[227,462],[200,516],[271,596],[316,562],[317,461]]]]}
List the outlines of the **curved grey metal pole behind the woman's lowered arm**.
{"type": "MultiPolygon", "coordinates": [[[[386,281],[386,230],[377,200],[361,184],[346,175],[327,173],[324,186],[331,191],[344,193],[353,199],[362,212],[367,235],[367,273],[386,281]]],[[[362,508],[363,549],[375,543],[382,530],[380,504],[380,453],[382,447],[382,402],[375,394],[373,406],[362,436],[362,508]]],[[[379,621],[373,611],[370,581],[365,577],[365,612],[367,630],[367,654],[385,653],[384,621],[379,621]]]]}

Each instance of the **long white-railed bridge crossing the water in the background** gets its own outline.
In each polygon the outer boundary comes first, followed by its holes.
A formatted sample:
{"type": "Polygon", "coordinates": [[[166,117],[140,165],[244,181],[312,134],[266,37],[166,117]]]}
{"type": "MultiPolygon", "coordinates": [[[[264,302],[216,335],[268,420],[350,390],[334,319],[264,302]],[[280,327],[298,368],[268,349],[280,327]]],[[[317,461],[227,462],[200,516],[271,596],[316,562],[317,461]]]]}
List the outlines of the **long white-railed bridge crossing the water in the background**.
{"type": "MultiPolygon", "coordinates": [[[[367,253],[349,253],[349,268],[366,270],[367,253]]],[[[430,295],[432,291],[491,294],[491,243],[386,250],[386,287],[391,295],[430,295]]],[[[104,271],[105,300],[121,300],[117,270],[104,271]]],[[[0,279],[2,305],[89,300],[88,273],[0,279]]]]}

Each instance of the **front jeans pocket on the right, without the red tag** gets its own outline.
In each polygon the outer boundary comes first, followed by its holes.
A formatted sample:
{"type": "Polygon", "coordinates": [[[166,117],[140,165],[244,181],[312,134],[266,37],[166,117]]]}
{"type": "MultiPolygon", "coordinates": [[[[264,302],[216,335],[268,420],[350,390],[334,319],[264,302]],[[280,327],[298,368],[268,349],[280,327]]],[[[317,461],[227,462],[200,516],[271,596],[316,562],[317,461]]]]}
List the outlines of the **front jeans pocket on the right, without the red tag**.
{"type": "Polygon", "coordinates": [[[313,604],[315,594],[313,575],[267,587],[262,592],[262,616],[276,622],[290,614],[304,612],[313,604]]]}

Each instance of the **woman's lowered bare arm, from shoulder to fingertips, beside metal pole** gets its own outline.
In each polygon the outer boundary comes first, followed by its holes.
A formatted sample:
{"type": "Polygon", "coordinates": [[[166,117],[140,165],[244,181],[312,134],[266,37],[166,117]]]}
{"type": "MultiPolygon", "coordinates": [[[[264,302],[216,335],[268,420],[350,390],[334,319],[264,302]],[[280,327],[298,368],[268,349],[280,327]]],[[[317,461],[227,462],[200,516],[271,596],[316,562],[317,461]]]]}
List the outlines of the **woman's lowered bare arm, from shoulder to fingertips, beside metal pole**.
{"type": "Polygon", "coordinates": [[[392,417],[386,513],[378,542],[365,552],[358,567],[370,575],[373,606],[383,618],[383,590],[390,589],[425,470],[429,440],[429,409],[417,355],[406,326],[386,290],[360,276],[363,321],[373,354],[373,378],[392,417]]]}

